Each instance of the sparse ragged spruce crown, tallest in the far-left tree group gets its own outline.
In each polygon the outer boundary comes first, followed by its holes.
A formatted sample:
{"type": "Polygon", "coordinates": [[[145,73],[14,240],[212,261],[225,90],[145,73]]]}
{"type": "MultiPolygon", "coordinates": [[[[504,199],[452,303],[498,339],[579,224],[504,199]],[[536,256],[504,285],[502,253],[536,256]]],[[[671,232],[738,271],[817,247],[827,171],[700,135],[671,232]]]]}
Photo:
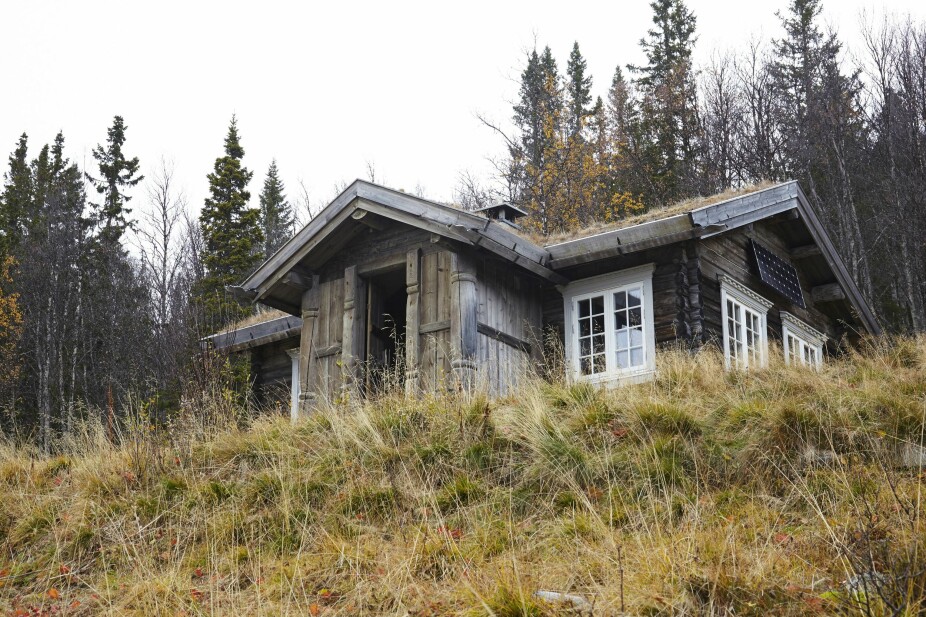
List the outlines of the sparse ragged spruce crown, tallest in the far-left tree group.
{"type": "Polygon", "coordinates": [[[87,180],[103,196],[102,202],[93,204],[93,208],[96,222],[101,226],[100,240],[109,247],[119,243],[128,227],[126,215],[131,210],[126,204],[132,198],[125,189],[144,180],[144,176],[137,175],[138,157],[127,159],[122,151],[127,128],[122,116],[113,118],[113,125],[107,131],[106,147],[97,145],[93,150],[100,177],[87,174],[87,180]]]}

